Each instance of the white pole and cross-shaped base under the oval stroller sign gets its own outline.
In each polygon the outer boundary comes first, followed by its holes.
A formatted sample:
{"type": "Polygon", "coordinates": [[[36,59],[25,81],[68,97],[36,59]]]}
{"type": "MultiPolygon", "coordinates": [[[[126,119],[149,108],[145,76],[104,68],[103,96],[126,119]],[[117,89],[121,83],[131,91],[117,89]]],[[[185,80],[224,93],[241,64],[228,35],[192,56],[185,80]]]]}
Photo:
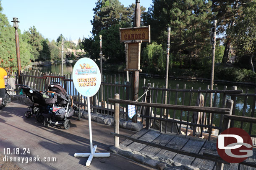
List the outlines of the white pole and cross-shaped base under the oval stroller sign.
{"type": "Polygon", "coordinates": [[[90,108],[90,99],[87,99],[88,103],[88,120],[89,120],[89,133],[90,133],[90,150],[91,153],[75,153],[75,157],[89,157],[86,166],[90,166],[91,160],[93,157],[110,157],[110,153],[95,153],[97,150],[97,145],[92,147],[92,133],[91,133],[91,108],[90,108]]]}

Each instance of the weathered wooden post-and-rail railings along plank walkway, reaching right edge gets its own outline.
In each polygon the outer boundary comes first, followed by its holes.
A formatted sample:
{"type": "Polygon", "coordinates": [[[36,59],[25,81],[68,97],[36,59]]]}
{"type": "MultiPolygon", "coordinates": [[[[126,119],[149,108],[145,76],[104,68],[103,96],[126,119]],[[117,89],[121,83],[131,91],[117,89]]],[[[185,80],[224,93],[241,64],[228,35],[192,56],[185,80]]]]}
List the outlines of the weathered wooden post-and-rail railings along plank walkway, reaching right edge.
{"type": "MultiPolygon", "coordinates": [[[[168,122],[175,122],[179,124],[186,124],[186,125],[192,125],[196,127],[209,127],[209,128],[215,128],[219,129],[220,132],[230,127],[230,119],[231,120],[239,120],[242,122],[249,122],[249,123],[256,123],[256,118],[251,117],[239,117],[232,114],[232,107],[233,107],[233,101],[231,99],[227,99],[226,102],[226,108],[214,108],[214,107],[197,107],[197,106],[183,106],[183,105],[171,105],[171,104],[156,104],[156,103],[144,103],[144,102],[136,102],[136,101],[127,101],[127,100],[121,100],[119,99],[119,94],[115,94],[115,99],[109,99],[110,102],[115,103],[115,128],[114,132],[111,132],[115,138],[114,138],[114,146],[119,147],[119,137],[122,137],[127,140],[131,140],[133,142],[141,143],[144,145],[149,145],[152,147],[157,147],[164,150],[169,150],[171,152],[175,152],[182,155],[187,155],[191,157],[196,157],[204,160],[211,160],[214,162],[217,162],[216,170],[223,170],[224,164],[229,165],[230,163],[225,162],[222,160],[222,158],[219,155],[206,153],[204,152],[203,155],[193,152],[187,152],[184,150],[178,150],[171,147],[166,147],[163,145],[155,144],[153,142],[147,142],[144,140],[139,140],[134,137],[129,137],[127,135],[119,134],[119,104],[131,104],[141,107],[155,107],[160,109],[175,109],[175,110],[183,110],[183,111],[191,111],[191,112],[211,112],[214,114],[223,115],[224,120],[222,123],[222,127],[213,127],[213,126],[207,126],[207,125],[201,125],[201,124],[193,124],[189,122],[183,122],[183,121],[176,121],[173,119],[162,119],[162,121],[168,121],[168,122]]],[[[145,116],[146,117],[146,128],[149,129],[149,119],[156,119],[155,117],[145,116]]],[[[157,118],[159,119],[159,118],[157,118]]],[[[250,167],[256,167],[256,164],[253,162],[246,162],[243,161],[240,164],[250,166],[250,167]]]]}

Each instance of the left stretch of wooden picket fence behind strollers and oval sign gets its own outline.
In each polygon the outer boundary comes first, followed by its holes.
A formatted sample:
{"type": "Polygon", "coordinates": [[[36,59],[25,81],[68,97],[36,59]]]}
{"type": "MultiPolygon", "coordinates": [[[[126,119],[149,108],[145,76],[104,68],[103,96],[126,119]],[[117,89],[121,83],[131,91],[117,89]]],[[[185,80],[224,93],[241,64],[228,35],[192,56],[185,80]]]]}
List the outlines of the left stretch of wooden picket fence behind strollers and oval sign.
{"type": "MultiPolygon", "coordinates": [[[[77,104],[80,108],[84,109],[87,107],[87,99],[76,90],[71,74],[61,76],[60,74],[50,72],[24,71],[20,76],[22,77],[21,84],[39,91],[47,91],[49,84],[60,84],[68,94],[71,94],[74,104],[77,104]]],[[[99,90],[97,94],[90,98],[91,109],[93,109],[93,112],[113,115],[114,106],[109,103],[108,98],[112,98],[115,93],[120,93],[122,99],[130,100],[131,84],[125,81],[124,75],[122,78],[120,75],[104,77],[104,82],[102,82],[102,93],[101,90],[99,90]]],[[[126,108],[126,105],[120,106],[123,118],[128,120],[126,108]]]]}

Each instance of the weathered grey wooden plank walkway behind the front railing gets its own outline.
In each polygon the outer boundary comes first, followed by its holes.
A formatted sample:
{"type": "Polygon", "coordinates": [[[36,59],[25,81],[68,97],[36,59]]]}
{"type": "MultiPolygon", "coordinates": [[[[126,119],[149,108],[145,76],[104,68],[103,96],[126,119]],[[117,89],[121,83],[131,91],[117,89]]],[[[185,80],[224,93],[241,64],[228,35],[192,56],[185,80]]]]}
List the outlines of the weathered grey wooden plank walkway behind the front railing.
{"type": "MultiPolygon", "coordinates": [[[[218,154],[215,140],[207,141],[206,139],[199,139],[190,136],[185,137],[185,135],[175,133],[162,134],[153,129],[142,129],[136,134],[133,134],[132,137],[193,153],[203,154],[204,152],[208,152],[218,154]]],[[[200,170],[215,170],[216,168],[216,163],[213,161],[180,155],[168,150],[162,150],[160,148],[133,142],[131,140],[124,140],[120,143],[120,147],[128,148],[133,151],[140,152],[143,155],[152,157],[170,158],[173,161],[180,162],[183,165],[199,167],[200,170]]],[[[253,156],[249,157],[246,161],[256,162],[255,148],[253,148],[253,156]]],[[[256,170],[256,168],[248,167],[245,165],[239,166],[238,164],[231,163],[230,165],[224,165],[224,170],[256,170]]]]}

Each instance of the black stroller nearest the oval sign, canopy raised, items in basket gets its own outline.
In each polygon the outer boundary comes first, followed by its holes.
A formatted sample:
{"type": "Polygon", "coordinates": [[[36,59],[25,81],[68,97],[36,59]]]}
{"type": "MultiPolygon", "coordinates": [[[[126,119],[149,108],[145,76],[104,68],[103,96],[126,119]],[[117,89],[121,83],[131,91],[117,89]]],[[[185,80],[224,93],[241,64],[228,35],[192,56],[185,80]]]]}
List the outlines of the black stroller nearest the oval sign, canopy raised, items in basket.
{"type": "Polygon", "coordinates": [[[43,114],[44,126],[48,127],[50,124],[63,125],[65,129],[70,128],[70,118],[74,112],[78,114],[78,120],[81,119],[81,113],[78,111],[78,107],[73,105],[73,99],[71,95],[68,95],[65,89],[59,84],[50,84],[48,86],[49,91],[52,94],[57,94],[56,103],[50,109],[49,114],[43,114]]]}

